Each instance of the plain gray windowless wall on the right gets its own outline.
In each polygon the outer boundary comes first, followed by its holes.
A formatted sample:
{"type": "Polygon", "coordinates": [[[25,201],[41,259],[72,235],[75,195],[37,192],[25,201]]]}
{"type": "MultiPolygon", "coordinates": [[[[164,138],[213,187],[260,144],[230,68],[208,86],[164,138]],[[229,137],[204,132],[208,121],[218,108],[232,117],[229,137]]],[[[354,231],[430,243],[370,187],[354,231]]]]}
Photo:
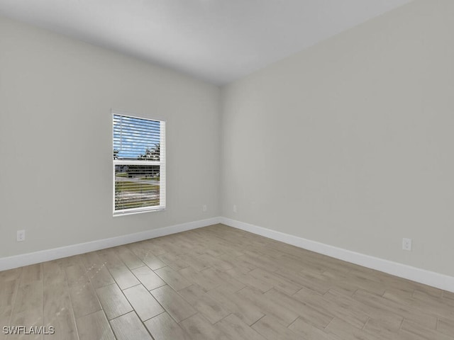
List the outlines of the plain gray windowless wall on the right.
{"type": "Polygon", "coordinates": [[[223,88],[222,215],[454,276],[453,18],[415,1],[223,88]]]}

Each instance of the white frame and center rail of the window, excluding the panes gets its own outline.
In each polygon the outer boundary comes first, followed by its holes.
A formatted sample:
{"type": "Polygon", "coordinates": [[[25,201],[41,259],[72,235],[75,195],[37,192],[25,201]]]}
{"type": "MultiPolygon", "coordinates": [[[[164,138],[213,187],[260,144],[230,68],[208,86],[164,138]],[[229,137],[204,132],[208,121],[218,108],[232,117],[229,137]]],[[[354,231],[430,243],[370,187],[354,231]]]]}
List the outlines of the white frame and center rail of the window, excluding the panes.
{"type": "Polygon", "coordinates": [[[150,211],[159,211],[159,210],[165,210],[166,207],[166,198],[165,198],[165,174],[166,174],[166,169],[165,169],[165,120],[157,120],[157,119],[150,119],[150,118],[143,118],[143,117],[137,117],[134,115],[130,115],[128,113],[125,113],[123,111],[111,111],[112,113],[112,149],[114,149],[114,115],[121,115],[123,117],[128,117],[128,118],[136,118],[136,119],[143,119],[143,120],[152,120],[155,122],[160,122],[160,160],[159,161],[149,161],[149,160],[123,160],[123,159],[113,159],[113,164],[112,164],[112,176],[113,176],[113,181],[112,181],[112,209],[113,209],[113,214],[115,216],[124,216],[124,215],[132,215],[132,214],[138,214],[142,212],[150,212],[150,211]],[[116,165],[157,165],[160,166],[160,204],[159,205],[153,205],[149,207],[141,207],[141,208],[129,208],[129,209],[123,209],[123,210],[116,210],[115,209],[115,166],[116,165]]]}

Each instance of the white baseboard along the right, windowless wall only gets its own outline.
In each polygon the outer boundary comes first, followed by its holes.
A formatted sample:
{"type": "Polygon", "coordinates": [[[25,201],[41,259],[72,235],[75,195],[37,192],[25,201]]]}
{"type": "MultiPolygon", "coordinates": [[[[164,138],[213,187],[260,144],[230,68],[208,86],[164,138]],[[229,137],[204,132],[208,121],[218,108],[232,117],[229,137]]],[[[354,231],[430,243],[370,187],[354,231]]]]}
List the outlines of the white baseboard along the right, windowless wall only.
{"type": "Polygon", "coordinates": [[[407,266],[406,264],[397,263],[389,260],[380,259],[374,256],[356,253],[336,246],[330,246],[320,242],[311,241],[310,239],[304,239],[302,237],[293,236],[290,234],[284,234],[283,232],[276,232],[275,230],[258,227],[257,225],[250,225],[249,223],[240,222],[237,220],[231,220],[227,217],[221,217],[220,222],[229,227],[235,227],[242,229],[253,234],[259,234],[270,239],[275,239],[280,242],[292,244],[299,248],[314,251],[319,254],[327,255],[355,263],[360,266],[389,273],[400,278],[406,278],[412,281],[423,283],[425,285],[431,285],[432,287],[440,288],[454,293],[454,277],[447,276],[441,273],[435,273],[433,271],[426,271],[425,269],[407,266]]]}

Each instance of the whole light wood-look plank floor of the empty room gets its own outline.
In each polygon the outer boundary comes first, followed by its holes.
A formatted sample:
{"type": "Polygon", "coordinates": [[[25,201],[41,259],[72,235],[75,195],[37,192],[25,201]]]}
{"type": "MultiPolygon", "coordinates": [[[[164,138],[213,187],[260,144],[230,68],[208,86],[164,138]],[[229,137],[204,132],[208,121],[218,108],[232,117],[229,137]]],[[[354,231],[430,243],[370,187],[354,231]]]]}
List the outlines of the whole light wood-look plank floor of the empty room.
{"type": "Polygon", "coordinates": [[[20,339],[448,340],[454,294],[214,225],[2,271],[7,325],[55,327],[20,339]]]}

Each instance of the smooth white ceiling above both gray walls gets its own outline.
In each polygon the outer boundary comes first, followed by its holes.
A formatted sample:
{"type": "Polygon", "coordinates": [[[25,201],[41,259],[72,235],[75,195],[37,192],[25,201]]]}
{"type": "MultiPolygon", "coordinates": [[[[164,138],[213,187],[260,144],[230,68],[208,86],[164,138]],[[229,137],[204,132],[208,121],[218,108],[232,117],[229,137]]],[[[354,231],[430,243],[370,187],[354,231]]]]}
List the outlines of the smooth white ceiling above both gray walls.
{"type": "Polygon", "coordinates": [[[0,15],[226,84],[411,0],[0,0],[0,15]]]}

